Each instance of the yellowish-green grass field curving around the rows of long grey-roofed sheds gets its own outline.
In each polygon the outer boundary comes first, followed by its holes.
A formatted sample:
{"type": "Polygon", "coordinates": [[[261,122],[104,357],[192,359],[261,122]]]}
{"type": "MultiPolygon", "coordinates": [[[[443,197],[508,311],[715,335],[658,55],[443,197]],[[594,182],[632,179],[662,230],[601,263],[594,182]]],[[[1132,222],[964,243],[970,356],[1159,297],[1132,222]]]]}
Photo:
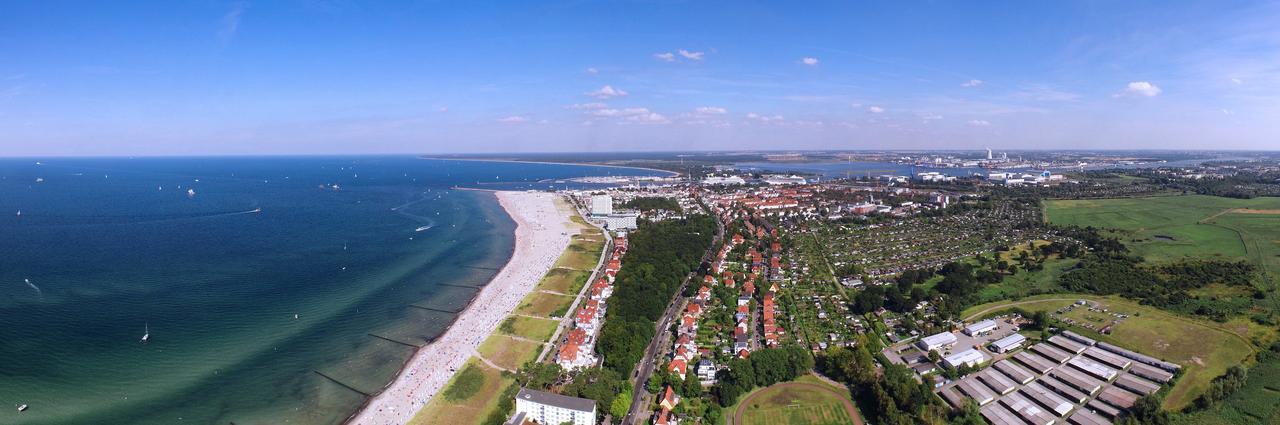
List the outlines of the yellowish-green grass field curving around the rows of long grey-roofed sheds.
{"type": "MultiPolygon", "coordinates": [[[[1110,335],[1076,326],[1071,326],[1073,330],[1183,365],[1185,370],[1183,376],[1165,398],[1165,407],[1170,410],[1187,407],[1208,388],[1208,383],[1215,376],[1221,375],[1233,365],[1245,362],[1253,355],[1253,346],[1249,343],[1248,335],[1239,334],[1233,326],[1183,317],[1120,297],[1037,296],[1021,301],[1000,301],[969,307],[961,316],[966,320],[978,319],[1015,306],[1027,311],[1053,312],[1076,300],[1092,300],[1111,311],[1129,314],[1130,317],[1112,326],[1110,335]]],[[[1097,323],[1088,317],[1091,314],[1098,316],[1094,319],[1106,320],[1101,314],[1088,312],[1085,309],[1076,309],[1069,316],[1078,321],[1097,323]]]]}

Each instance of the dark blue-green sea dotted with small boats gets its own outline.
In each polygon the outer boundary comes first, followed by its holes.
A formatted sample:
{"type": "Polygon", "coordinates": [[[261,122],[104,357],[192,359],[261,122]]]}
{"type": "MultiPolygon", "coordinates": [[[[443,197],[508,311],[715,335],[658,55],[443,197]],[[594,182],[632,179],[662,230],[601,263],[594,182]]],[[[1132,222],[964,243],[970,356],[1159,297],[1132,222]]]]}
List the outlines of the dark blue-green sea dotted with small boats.
{"type": "Polygon", "coordinates": [[[340,424],[509,259],[515,223],[465,188],[662,174],[0,159],[0,424],[340,424]]]}

